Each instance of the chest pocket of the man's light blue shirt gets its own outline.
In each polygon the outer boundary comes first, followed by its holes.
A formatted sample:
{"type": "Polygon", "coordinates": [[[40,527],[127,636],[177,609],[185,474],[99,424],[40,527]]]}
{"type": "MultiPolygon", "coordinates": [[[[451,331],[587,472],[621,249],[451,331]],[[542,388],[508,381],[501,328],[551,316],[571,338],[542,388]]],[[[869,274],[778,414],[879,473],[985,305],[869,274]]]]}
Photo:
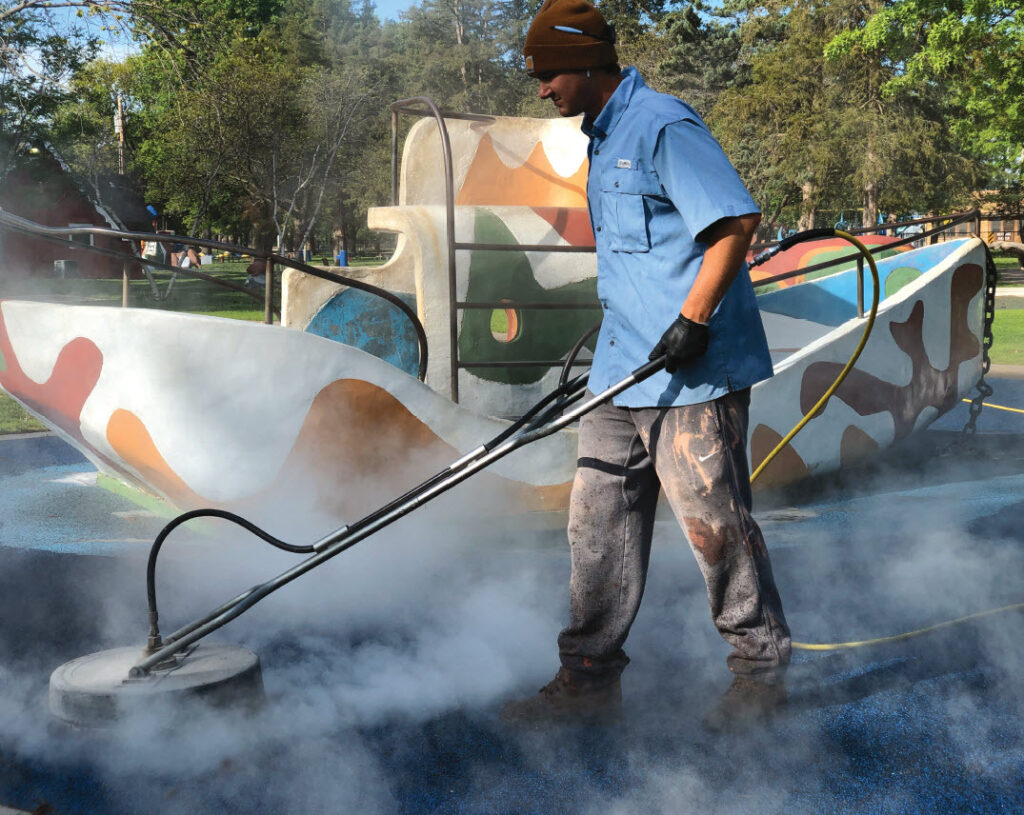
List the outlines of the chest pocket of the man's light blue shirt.
{"type": "Polygon", "coordinates": [[[629,168],[609,169],[601,178],[608,249],[612,252],[649,252],[650,218],[664,200],[657,176],[637,161],[629,168]]]}

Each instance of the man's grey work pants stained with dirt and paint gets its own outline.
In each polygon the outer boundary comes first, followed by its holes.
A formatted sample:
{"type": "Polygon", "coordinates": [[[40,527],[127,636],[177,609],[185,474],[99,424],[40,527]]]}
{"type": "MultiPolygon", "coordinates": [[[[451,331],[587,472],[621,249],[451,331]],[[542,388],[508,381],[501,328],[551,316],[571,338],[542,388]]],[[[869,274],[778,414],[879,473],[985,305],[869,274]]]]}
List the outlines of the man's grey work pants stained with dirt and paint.
{"type": "Polygon", "coordinates": [[[623,644],[643,597],[659,487],[703,574],[712,619],[732,646],[729,670],[788,663],[790,631],[751,516],[749,408],[746,389],[681,408],[606,403],[582,419],[569,503],[570,620],[558,637],[574,679],[602,683],[629,662],[623,644]]]}

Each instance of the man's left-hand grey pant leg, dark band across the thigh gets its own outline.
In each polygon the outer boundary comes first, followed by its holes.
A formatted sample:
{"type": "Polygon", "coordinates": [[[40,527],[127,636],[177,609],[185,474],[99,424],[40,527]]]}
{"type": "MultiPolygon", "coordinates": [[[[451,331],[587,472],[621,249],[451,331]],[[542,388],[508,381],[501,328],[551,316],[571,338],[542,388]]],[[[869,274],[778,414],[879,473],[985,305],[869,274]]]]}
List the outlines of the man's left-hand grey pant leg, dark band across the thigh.
{"type": "Polygon", "coordinates": [[[623,644],[647,577],[658,485],[633,413],[608,403],[580,424],[569,501],[569,625],[558,650],[581,681],[608,681],[626,668],[623,644]]]}

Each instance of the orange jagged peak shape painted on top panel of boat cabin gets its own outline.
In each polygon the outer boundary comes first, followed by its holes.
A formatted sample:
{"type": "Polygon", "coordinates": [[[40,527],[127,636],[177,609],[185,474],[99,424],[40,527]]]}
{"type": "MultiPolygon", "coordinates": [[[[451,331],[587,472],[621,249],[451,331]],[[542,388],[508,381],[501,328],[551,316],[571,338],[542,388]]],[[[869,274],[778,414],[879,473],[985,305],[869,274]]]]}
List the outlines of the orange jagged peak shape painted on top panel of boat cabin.
{"type": "Polygon", "coordinates": [[[456,204],[508,207],[586,207],[587,162],[568,178],[555,172],[544,144],[537,142],[519,167],[498,156],[490,134],[480,139],[456,204]]]}

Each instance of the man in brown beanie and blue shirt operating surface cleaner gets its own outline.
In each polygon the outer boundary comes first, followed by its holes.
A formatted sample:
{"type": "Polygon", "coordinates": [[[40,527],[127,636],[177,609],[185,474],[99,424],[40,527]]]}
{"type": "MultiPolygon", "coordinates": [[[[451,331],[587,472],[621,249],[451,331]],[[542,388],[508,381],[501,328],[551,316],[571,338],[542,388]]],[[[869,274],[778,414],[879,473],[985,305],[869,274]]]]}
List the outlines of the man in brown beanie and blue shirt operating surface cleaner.
{"type": "Polygon", "coordinates": [[[620,71],[614,34],[585,0],[547,0],[526,70],[562,116],[584,115],[587,199],[604,319],[589,387],[648,358],[665,371],[584,417],[569,507],[570,621],[561,669],[516,721],[614,718],[623,645],[640,607],[666,492],[708,586],[735,675],[711,725],[784,702],[790,632],[751,516],[750,388],[772,374],[743,258],[761,215],[700,117],[620,71]]]}

